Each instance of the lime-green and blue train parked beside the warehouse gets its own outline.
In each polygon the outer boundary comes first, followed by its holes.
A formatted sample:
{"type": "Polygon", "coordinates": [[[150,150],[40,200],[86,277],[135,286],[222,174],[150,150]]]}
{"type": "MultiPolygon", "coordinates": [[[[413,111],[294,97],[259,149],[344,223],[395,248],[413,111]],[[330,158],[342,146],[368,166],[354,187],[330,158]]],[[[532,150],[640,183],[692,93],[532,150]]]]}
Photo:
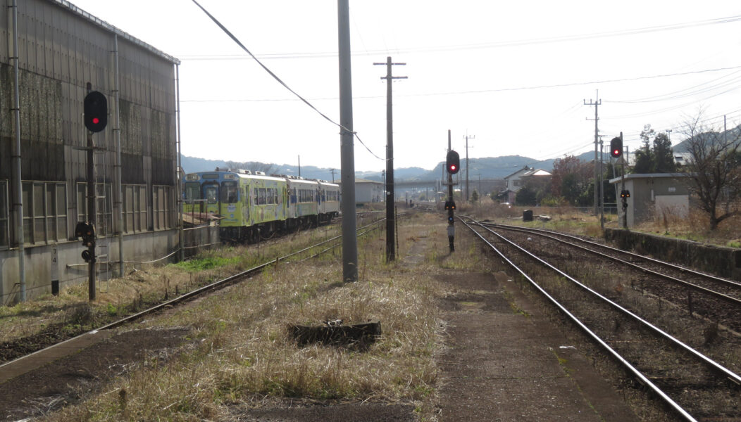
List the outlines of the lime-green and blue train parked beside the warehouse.
{"type": "Polygon", "coordinates": [[[250,243],[273,233],[327,224],[339,215],[339,185],[250,170],[188,173],[183,212],[218,215],[219,235],[250,243]]]}

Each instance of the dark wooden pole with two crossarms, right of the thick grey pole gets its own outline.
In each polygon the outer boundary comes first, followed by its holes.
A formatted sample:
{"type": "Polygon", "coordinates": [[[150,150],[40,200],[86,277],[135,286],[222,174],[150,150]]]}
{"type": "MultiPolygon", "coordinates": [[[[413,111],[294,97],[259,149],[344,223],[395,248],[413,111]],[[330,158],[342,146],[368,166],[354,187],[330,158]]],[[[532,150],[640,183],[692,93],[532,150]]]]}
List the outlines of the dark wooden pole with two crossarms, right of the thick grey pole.
{"type": "Polygon", "coordinates": [[[391,76],[391,66],[405,66],[406,63],[392,63],[391,56],[386,58],[385,63],[373,63],[373,65],[386,65],[386,261],[396,259],[393,245],[393,230],[396,218],[393,215],[393,107],[391,101],[391,82],[393,79],[406,79],[406,76],[391,76]]]}

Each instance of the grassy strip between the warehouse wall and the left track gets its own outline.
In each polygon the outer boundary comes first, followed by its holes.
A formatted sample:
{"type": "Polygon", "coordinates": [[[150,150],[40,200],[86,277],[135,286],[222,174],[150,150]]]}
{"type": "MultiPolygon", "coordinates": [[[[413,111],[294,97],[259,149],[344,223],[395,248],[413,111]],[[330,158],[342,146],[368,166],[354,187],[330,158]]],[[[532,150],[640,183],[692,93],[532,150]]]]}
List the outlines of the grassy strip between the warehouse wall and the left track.
{"type": "Polygon", "coordinates": [[[75,334],[106,321],[173,298],[226,275],[262,264],[290,250],[337,235],[338,227],[297,232],[290,242],[268,241],[259,246],[222,247],[197,256],[191,269],[181,265],[145,266],[122,278],[98,283],[96,301],[87,301],[87,283],[64,287],[59,296],[43,295],[12,307],[0,307],[0,342],[24,338],[59,324],[75,334]],[[287,245],[288,244],[288,245],[287,245]]]}

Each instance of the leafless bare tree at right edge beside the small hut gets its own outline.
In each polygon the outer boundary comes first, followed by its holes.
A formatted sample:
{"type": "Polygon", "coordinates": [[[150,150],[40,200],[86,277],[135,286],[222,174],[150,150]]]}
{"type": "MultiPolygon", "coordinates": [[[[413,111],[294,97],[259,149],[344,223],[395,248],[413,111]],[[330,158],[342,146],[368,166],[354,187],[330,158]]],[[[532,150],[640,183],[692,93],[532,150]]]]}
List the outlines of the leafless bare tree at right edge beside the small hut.
{"type": "Polygon", "coordinates": [[[741,127],[720,133],[703,127],[701,115],[685,121],[683,133],[691,156],[682,172],[688,176],[688,189],[697,198],[698,207],[708,214],[710,230],[715,230],[721,221],[739,214],[731,206],[741,195],[737,160],[741,127]]]}

